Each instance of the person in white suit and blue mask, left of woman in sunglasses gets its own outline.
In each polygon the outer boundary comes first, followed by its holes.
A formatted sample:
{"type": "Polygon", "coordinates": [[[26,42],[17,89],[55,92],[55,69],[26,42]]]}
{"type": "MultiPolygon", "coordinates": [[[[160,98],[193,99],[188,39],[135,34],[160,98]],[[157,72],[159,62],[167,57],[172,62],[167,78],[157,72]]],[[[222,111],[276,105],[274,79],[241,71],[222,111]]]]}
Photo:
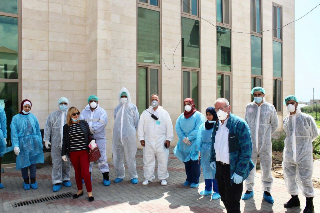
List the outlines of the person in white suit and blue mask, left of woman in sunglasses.
{"type": "Polygon", "coordinates": [[[53,192],[61,189],[61,183],[70,187],[70,161],[62,161],[61,147],[62,147],[62,129],[67,123],[67,109],[69,101],[65,97],[58,100],[59,110],[49,114],[44,126],[44,144],[47,149],[51,146],[51,159],[52,159],[52,183],[53,192]],[[51,141],[51,142],[50,142],[51,141]]]}

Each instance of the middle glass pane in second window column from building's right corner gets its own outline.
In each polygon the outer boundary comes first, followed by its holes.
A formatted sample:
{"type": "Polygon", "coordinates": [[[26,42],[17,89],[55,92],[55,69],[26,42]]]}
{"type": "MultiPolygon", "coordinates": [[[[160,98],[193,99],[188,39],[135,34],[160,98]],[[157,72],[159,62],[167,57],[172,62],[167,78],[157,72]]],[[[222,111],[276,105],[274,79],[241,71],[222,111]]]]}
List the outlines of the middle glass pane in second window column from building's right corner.
{"type": "Polygon", "coordinates": [[[251,74],[262,75],[261,38],[251,35],[251,74]]]}

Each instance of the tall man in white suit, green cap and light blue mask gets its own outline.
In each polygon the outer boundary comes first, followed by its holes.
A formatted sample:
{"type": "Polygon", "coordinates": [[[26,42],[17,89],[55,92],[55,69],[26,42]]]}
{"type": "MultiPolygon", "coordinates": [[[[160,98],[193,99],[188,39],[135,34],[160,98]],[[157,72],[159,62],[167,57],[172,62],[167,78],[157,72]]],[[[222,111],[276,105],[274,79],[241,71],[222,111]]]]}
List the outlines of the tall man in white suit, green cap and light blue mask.
{"type": "Polygon", "coordinates": [[[254,177],[256,174],[257,157],[259,154],[261,168],[261,182],[263,198],[273,203],[271,187],[273,178],[271,174],[272,165],[272,143],[271,135],[278,128],[278,114],[275,107],[266,102],[265,90],[262,87],[254,87],[251,91],[253,102],[246,106],[244,120],[248,123],[252,139],[251,160],[255,167],[250,171],[249,177],[244,180],[246,192],[242,200],[253,197],[254,177]]]}

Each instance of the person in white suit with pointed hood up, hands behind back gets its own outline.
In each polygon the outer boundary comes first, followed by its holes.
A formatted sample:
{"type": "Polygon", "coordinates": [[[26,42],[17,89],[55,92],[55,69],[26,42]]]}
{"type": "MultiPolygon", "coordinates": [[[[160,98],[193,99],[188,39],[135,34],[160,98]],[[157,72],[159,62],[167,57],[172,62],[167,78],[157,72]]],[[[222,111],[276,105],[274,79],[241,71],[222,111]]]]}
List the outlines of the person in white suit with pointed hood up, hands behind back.
{"type": "Polygon", "coordinates": [[[112,137],[113,165],[116,170],[115,183],[124,178],[124,156],[126,158],[132,184],[138,183],[136,168],[137,140],[136,131],[139,123],[137,106],[131,103],[130,93],[122,88],[118,94],[119,104],[114,110],[115,124],[112,137]]]}

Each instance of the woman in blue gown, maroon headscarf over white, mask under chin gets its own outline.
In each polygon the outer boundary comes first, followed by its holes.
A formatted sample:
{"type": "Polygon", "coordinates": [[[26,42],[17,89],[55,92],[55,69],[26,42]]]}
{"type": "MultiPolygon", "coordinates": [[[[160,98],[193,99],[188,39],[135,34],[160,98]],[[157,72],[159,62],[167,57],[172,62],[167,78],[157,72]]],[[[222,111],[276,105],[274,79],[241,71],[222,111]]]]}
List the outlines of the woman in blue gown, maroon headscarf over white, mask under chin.
{"type": "Polygon", "coordinates": [[[30,113],[31,101],[21,102],[21,111],[12,117],[11,142],[14,153],[17,155],[16,170],[21,170],[23,188],[25,190],[38,188],[36,182],[36,164],[44,163],[43,145],[39,122],[36,116],[30,113]],[[30,170],[30,182],[28,176],[30,170]],[[31,184],[30,184],[31,183],[31,184]]]}

